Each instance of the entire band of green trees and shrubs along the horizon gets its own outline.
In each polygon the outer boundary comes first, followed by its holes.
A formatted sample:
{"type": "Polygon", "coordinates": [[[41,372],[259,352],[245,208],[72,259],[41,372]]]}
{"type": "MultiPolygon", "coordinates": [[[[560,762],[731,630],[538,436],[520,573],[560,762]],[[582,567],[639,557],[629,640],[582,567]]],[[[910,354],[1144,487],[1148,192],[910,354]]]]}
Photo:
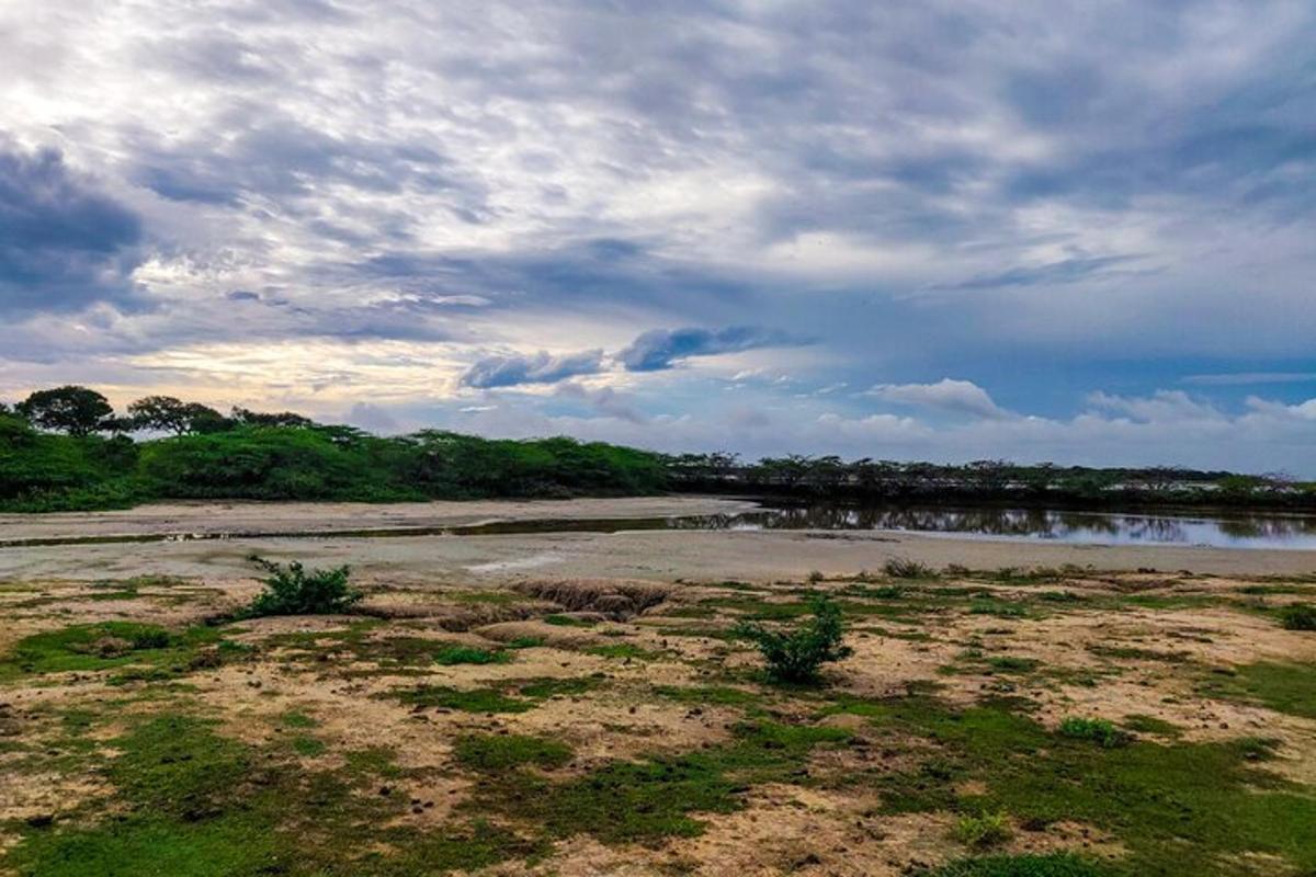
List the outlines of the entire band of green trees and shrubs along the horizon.
{"type": "Polygon", "coordinates": [[[836,456],[670,456],[570,438],[484,439],[424,430],[376,437],[291,412],[147,397],[114,414],[64,387],[0,406],[0,510],[124,508],[151,500],[397,502],[638,496],[663,490],[855,502],[1055,508],[1216,506],[1316,510],[1316,484],[1190,469],[963,465],[836,456]],[[162,435],[133,440],[132,435],[162,435]]]}

